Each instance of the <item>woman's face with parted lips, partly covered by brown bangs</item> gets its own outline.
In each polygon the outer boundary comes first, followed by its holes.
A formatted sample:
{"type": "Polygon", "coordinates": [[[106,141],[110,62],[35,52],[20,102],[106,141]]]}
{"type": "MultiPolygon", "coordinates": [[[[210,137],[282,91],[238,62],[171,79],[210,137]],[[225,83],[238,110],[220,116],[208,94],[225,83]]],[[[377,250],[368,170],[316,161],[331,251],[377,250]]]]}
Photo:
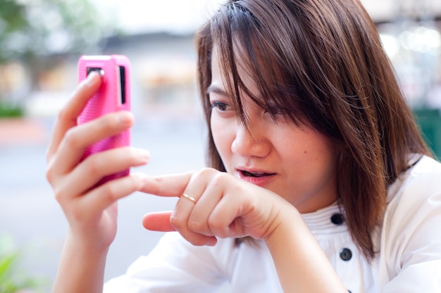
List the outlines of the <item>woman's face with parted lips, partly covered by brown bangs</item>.
{"type": "MultiPolygon", "coordinates": [[[[301,213],[335,202],[337,155],[331,141],[315,129],[297,126],[284,115],[274,119],[242,95],[248,119],[244,126],[225,91],[216,50],[212,60],[208,89],[211,131],[228,173],[277,193],[301,213]]],[[[244,70],[239,73],[246,86],[256,91],[244,70]]]]}

